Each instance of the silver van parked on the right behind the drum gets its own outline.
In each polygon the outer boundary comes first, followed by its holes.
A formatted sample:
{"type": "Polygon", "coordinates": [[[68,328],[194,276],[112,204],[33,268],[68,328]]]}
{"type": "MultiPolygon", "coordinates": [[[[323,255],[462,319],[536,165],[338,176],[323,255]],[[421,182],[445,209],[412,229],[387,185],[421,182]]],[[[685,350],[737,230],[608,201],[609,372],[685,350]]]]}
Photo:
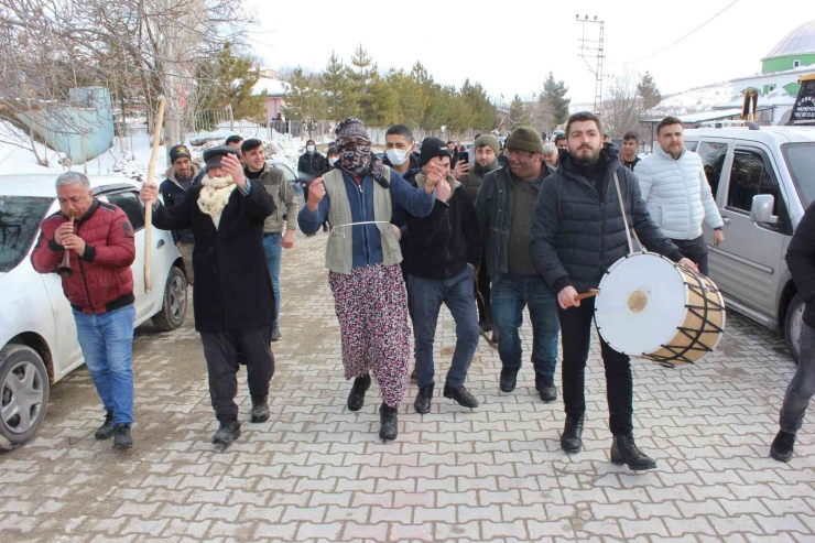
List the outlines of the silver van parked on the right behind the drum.
{"type": "Polygon", "coordinates": [[[784,257],[804,211],[815,202],[815,127],[685,130],[702,156],[725,220],[725,242],[705,225],[710,279],[728,306],[776,330],[797,361],[804,300],[784,257]]]}

